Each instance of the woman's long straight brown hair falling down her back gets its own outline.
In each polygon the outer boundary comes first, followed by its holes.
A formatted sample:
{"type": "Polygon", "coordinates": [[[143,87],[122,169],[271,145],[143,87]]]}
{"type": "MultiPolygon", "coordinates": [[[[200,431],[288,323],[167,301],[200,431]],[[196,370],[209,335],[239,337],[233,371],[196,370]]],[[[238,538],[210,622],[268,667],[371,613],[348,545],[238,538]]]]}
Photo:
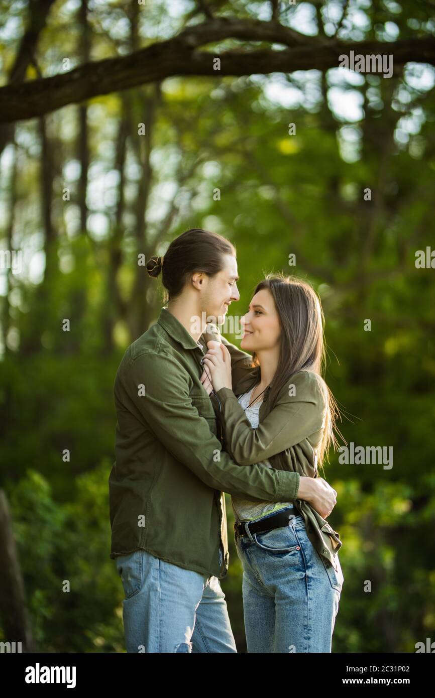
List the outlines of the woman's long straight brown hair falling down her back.
{"type": "MultiPolygon", "coordinates": [[[[329,462],[330,445],[334,445],[334,449],[337,450],[338,441],[334,430],[339,436],[341,433],[336,425],[337,417],[340,417],[339,408],[323,378],[326,360],[325,316],[320,298],[307,281],[284,274],[267,274],[265,279],[258,283],[253,295],[262,289],[267,289],[272,294],[281,323],[279,361],[270,383],[271,408],[283,385],[288,383],[294,373],[303,369],[316,373],[326,407],[323,437],[317,454],[318,466],[322,466],[325,456],[329,462]]],[[[259,366],[255,352],[253,366],[259,366]]]]}

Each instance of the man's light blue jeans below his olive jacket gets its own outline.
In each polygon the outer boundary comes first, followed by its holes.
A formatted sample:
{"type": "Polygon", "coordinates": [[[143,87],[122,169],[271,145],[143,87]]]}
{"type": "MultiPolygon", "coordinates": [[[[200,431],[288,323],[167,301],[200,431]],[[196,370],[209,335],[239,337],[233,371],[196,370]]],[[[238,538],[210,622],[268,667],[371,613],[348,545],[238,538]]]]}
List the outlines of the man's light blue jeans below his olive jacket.
{"type": "Polygon", "coordinates": [[[217,577],[145,550],[117,558],[127,652],[237,652],[217,577]]]}

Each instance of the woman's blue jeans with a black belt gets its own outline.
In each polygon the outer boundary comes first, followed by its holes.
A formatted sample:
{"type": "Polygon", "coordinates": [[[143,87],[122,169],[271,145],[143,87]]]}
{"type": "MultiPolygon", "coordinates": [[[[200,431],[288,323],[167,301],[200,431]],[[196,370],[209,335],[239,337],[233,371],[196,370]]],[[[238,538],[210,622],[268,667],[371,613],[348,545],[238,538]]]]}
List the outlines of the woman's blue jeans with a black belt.
{"type": "MultiPolygon", "coordinates": [[[[263,521],[271,516],[259,519],[263,521]]],[[[236,535],[248,652],[330,652],[344,577],[289,509],[288,526],[236,535]]]]}

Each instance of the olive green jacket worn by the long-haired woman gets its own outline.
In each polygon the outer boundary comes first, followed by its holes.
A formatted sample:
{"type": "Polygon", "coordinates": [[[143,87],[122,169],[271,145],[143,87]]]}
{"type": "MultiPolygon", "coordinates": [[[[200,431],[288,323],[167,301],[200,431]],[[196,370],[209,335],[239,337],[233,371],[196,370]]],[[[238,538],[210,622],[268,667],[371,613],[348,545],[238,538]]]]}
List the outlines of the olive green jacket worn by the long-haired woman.
{"type": "MultiPolygon", "coordinates": [[[[233,389],[221,388],[216,393],[221,402],[227,452],[239,466],[269,459],[272,468],[290,470],[301,477],[319,477],[317,450],[325,420],[325,393],[320,377],[312,371],[294,373],[279,392],[272,410],[268,387],[258,411],[258,427],[252,429],[236,395],[248,392],[260,382],[260,369],[251,367],[251,355],[235,347],[228,349],[235,364],[233,389]]],[[[337,570],[335,556],[342,546],[339,534],[305,500],[296,499],[294,505],[304,517],[307,535],[318,554],[337,570]]]]}

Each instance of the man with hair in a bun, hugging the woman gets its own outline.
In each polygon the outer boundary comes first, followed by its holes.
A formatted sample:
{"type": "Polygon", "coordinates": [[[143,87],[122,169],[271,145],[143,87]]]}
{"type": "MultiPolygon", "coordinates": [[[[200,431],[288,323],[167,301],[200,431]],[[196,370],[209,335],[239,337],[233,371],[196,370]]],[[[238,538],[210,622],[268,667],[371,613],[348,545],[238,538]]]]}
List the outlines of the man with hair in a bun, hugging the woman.
{"type": "Polygon", "coordinates": [[[229,557],[223,491],[305,499],[323,517],[337,493],[322,478],[239,466],[216,437],[214,406],[200,380],[202,333],[206,318],[221,318],[239,300],[233,246],[193,229],[170,244],[164,260],[150,262],[151,276],[163,268],[168,306],[128,347],[115,378],[110,557],[126,595],[126,648],[236,652],[219,584],[229,557]]]}

